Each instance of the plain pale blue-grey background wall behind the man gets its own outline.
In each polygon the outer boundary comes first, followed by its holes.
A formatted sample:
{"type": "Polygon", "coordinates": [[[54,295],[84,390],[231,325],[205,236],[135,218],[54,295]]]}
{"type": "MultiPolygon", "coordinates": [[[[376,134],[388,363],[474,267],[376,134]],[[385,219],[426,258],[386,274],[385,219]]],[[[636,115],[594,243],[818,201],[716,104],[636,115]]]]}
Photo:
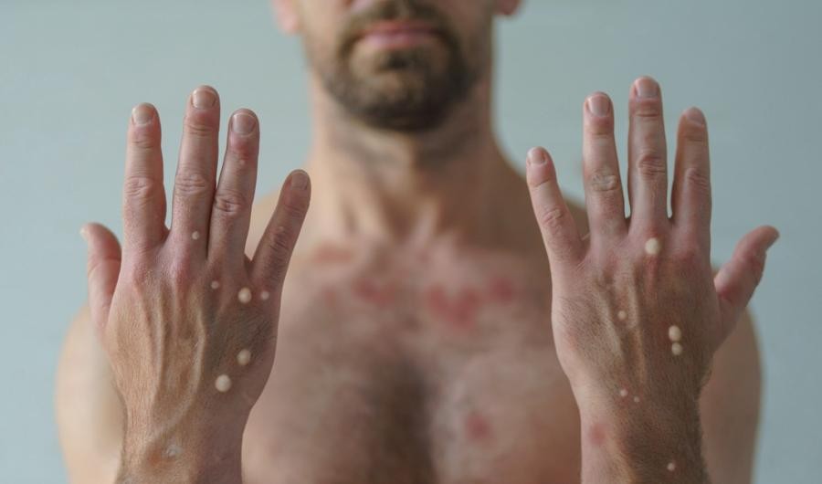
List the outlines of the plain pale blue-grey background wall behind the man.
{"type": "MultiPolygon", "coordinates": [[[[629,84],[651,74],[665,91],[670,135],[689,105],[708,115],[714,259],[760,223],[781,229],[753,304],[765,363],[756,481],[819,482],[822,2],[526,4],[502,23],[499,43],[501,139],[518,165],[544,144],[566,191],[581,195],[585,95],[613,96],[624,140],[629,84]]],[[[265,0],[0,0],[0,481],[65,479],[52,389],[58,347],[86,293],[78,229],[93,219],[121,231],[132,105],[160,109],[167,162],[196,85],[216,86],[226,115],[257,110],[259,193],[305,154],[303,81],[299,44],[279,34],[265,0]]]]}

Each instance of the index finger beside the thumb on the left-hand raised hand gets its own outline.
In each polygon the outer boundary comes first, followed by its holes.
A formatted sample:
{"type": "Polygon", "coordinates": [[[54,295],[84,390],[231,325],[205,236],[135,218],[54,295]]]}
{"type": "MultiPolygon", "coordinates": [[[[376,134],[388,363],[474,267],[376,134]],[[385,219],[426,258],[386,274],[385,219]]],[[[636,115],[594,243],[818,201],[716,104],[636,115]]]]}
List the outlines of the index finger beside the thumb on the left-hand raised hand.
{"type": "Polygon", "coordinates": [[[151,104],[132,110],[122,190],[123,246],[145,252],[163,241],[165,189],[160,117],[151,104]]]}

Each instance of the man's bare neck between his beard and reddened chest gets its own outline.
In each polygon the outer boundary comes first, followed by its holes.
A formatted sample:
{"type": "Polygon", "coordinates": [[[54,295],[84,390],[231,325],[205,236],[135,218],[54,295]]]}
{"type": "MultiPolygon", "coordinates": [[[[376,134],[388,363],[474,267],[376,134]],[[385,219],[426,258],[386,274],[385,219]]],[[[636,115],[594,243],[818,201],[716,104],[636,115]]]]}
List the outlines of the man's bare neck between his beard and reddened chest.
{"type": "Polygon", "coordinates": [[[480,81],[437,129],[394,132],[353,119],[312,82],[314,229],[323,237],[426,243],[478,238],[516,174],[495,140],[490,82],[480,81]]]}

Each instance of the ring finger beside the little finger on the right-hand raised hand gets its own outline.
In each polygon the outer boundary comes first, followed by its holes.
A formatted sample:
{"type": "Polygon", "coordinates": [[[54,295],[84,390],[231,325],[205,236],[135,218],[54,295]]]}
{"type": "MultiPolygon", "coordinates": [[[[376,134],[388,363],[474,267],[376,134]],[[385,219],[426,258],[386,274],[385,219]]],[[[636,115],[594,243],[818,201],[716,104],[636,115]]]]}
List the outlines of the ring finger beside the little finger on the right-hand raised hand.
{"type": "Polygon", "coordinates": [[[594,241],[599,236],[622,235],[627,229],[611,106],[604,93],[595,93],[585,101],[585,207],[594,241]]]}

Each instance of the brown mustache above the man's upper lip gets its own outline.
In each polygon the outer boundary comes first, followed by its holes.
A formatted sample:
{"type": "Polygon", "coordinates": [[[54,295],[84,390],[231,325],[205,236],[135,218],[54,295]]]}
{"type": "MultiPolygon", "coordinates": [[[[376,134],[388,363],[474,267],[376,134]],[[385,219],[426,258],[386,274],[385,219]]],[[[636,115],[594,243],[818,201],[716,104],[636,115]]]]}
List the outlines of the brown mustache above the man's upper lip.
{"type": "Polygon", "coordinates": [[[417,21],[431,26],[438,37],[441,37],[449,46],[458,44],[457,36],[450,25],[448,18],[441,14],[433,5],[419,0],[392,0],[376,3],[374,6],[353,15],[347,22],[340,35],[340,53],[348,55],[357,40],[363,36],[365,30],[378,22],[385,21],[417,21]]]}

